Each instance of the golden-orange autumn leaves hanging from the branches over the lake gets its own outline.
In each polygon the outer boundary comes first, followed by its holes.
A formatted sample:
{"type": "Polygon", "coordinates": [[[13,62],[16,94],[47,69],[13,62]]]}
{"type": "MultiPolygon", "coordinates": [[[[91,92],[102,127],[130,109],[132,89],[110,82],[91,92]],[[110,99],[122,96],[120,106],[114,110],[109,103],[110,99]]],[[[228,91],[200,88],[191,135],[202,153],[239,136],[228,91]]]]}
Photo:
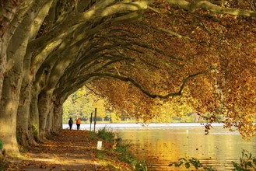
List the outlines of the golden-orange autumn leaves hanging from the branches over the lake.
{"type": "Polygon", "coordinates": [[[107,44],[120,45],[103,53],[124,54],[128,60],[109,68],[115,79],[99,79],[92,87],[116,110],[145,122],[160,113],[179,116],[178,106],[185,105],[184,113],[198,113],[209,123],[222,122],[227,128],[237,127],[244,137],[254,136],[255,19],[185,12],[163,1],[151,7],[154,10],[146,11],[142,21],[106,30],[107,44]],[[120,82],[118,76],[132,80],[120,82]],[[180,92],[184,81],[180,97],[166,96],[180,92]],[[168,105],[176,110],[167,107],[163,112],[168,105]]]}

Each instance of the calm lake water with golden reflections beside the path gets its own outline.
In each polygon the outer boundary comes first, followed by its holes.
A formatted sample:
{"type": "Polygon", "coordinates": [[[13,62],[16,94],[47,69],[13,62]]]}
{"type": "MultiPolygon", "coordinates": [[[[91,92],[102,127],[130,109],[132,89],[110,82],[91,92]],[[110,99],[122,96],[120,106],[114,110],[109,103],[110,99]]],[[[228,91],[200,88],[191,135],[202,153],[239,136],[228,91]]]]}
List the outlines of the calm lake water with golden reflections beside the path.
{"type": "MultiPolygon", "coordinates": [[[[181,170],[169,167],[170,162],[180,158],[199,159],[203,165],[214,170],[233,170],[233,162],[239,162],[243,149],[256,156],[256,138],[245,141],[237,131],[223,129],[222,124],[212,124],[205,135],[201,124],[96,124],[96,130],[107,127],[117,131],[123,141],[132,145],[138,159],[153,164],[152,170],[181,170]]],[[[64,124],[63,128],[67,128],[64,124]]],[[[89,130],[89,124],[80,129],[89,130]]],[[[75,129],[76,126],[73,125],[75,129]]],[[[91,130],[94,129],[94,124],[91,130]]],[[[195,168],[191,167],[190,170],[195,168]]]]}

